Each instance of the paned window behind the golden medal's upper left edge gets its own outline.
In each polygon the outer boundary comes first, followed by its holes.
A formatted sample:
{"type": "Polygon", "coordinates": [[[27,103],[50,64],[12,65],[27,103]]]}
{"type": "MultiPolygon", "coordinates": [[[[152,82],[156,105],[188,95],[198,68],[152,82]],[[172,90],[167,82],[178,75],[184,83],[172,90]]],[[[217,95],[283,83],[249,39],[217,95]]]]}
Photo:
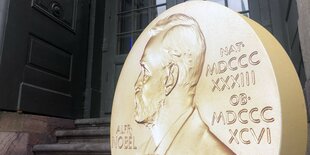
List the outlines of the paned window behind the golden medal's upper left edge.
{"type": "Polygon", "coordinates": [[[128,54],[144,28],[165,10],[166,0],[120,0],[117,13],[117,54],[128,54]]]}

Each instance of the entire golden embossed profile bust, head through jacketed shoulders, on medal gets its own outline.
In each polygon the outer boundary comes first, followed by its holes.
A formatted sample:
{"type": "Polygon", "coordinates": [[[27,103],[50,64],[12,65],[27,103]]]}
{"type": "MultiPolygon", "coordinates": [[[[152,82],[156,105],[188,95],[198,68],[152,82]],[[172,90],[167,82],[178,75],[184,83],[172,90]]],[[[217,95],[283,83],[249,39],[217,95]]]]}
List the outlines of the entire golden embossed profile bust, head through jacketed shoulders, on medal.
{"type": "MultiPolygon", "coordinates": [[[[135,83],[135,121],[149,128],[141,154],[234,154],[202,121],[195,106],[206,44],[198,23],[184,14],[149,31],[135,83]]],[[[207,95],[207,94],[206,94],[207,95]]]]}

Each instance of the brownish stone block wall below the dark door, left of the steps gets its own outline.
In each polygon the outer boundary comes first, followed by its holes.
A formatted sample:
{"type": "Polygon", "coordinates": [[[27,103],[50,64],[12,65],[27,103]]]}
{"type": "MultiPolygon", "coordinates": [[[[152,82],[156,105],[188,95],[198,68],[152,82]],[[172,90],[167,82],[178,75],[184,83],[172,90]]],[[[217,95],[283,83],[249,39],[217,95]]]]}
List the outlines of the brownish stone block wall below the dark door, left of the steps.
{"type": "Polygon", "coordinates": [[[74,128],[70,119],[0,112],[0,154],[33,155],[32,146],[53,143],[55,129],[74,128]]]}

